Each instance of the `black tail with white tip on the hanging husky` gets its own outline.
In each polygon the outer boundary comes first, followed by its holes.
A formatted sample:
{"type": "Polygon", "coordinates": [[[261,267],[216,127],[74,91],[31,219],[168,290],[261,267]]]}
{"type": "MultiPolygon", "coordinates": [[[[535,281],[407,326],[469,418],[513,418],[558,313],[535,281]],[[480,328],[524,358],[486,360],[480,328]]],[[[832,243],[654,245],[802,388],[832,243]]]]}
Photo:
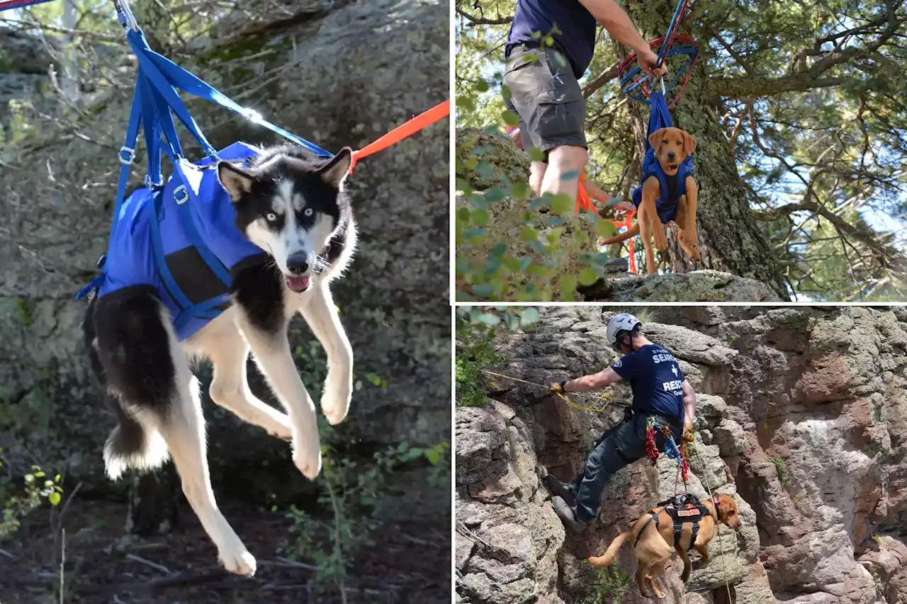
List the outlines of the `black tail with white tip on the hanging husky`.
{"type": "Polygon", "coordinates": [[[104,466],[112,480],[128,468],[153,470],[167,461],[170,453],[161,432],[150,421],[139,418],[123,408],[114,398],[113,408],[119,423],[104,443],[104,466]]]}

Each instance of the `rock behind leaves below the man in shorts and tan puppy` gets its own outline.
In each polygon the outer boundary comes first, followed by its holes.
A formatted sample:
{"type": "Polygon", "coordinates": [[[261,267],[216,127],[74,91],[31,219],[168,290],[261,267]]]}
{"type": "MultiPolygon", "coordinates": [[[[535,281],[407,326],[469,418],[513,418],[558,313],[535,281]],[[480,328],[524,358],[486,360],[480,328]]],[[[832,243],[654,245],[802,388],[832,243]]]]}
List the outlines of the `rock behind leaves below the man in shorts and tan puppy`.
{"type": "MultiPolygon", "coordinates": [[[[473,229],[482,229],[484,234],[481,241],[473,242],[465,238],[466,240],[458,244],[457,290],[472,291],[469,284],[479,281],[476,278],[465,278],[463,272],[473,276],[483,272],[485,267],[500,265],[500,262],[491,259],[493,249],[506,243],[507,257],[535,258],[533,262],[539,265],[540,271],[544,271],[543,278],[536,278],[536,281],[541,282],[542,288],[548,288],[548,296],[541,297],[537,294],[532,300],[560,300],[559,289],[555,286],[561,277],[577,275],[583,268],[590,266],[589,258],[599,253],[595,245],[598,232],[593,222],[594,217],[589,219],[590,216],[587,214],[574,214],[572,211],[560,217],[552,217],[550,213],[530,210],[529,200],[513,197],[510,194],[512,185],[525,184],[529,181],[530,159],[501,132],[486,132],[474,128],[459,129],[456,133],[456,145],[457,190],[461,191],[457,193],[456,208],[462,212],[479,209],[471,202],[471,197],[487,206],[487,215],[483,214],[481,218],[473,215],[470,220],[457,220],[458,228],[461,225],[463,227],[458,235],[473,229]],[[493,197],[486,200],[483,194],[488,190],[502,190],[505,195],[502,199],[493,197]],[[522,232],[526,227],[535,230],[537,234],[535,239],[543,245],[549,245],[547,238],[552,232],[560,238],[560,242],[545,254],[538,253],[538,250],[533,251],[530,246],[537,244],[532,238],[530,242],[522,239],[522,232]]],[[[506,266],[506,263],[504,265],[506,266]]],[[[640,267],[640,270],[644,270],[644,267],[640,267]]],[[[541,275],[541,272],[539,274],[541,275]]],[[[522,300],[518,296],[520,285],[522,283],[507,287],[501,294],[493,297],[479,297],[494,301],[522,300]]],[[[759,281],[716,270],[640,277],[608,275],[601,277],[589,287],[580,287],[576,299],[616,302],[780,300],[771,287],[759,281]]]]}

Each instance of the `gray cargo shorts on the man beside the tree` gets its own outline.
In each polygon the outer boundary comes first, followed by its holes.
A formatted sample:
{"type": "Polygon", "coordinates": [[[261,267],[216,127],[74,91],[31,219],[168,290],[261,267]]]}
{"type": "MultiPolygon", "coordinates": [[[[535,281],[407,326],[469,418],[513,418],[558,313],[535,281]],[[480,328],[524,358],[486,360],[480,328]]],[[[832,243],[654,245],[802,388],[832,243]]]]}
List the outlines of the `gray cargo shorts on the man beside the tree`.
{"type": "Polygon", "coordinates": [[[586,100],[563,54],[552,48],[516,46],[507,59],[504,104],[520,115],[522,147],[545,153],[563,145],[588,148],[586,100]]]}

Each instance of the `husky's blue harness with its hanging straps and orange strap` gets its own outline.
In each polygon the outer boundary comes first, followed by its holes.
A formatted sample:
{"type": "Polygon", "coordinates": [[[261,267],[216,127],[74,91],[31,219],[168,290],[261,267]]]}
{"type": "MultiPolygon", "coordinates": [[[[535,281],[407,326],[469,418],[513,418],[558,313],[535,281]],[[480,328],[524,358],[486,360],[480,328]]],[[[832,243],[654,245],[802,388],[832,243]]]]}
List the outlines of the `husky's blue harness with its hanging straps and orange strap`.
{"type": "MultiPolygon", "coordinates": [[[[235,142],[216,151],[180,99],[180,92],[215,102],[250,122],[297,143],[318,158],[334,156],[258,112],[229,99],[208,83],[151,50],[128,0],[113,0],[126,41],[139,63],[126,136],[119,153],[121,165],[113,207],[111,239],[98,260],[101,274],[83,287],[77,299],[98,297],[126,287],[156,291],[171,311],[174,329],[183,340],[217,317],[229,303],[229,287],[237,270],[250,260],[264,258],[264,250],[245,239],[233,225],[235,210],[226,200],[211,168],[219,160],[249,161],[258,150],[235,142]],[[180,146],[173,116],[199,142],[207,157],[190,162],[180,146]],[[148,153],[145,187],[124,199],[135,159],[139,130],[148,153]],[[166,153],[176,178],[164,180],[161,159],[166,153]],[[121,226],[123,229],[118,229],[121,226]],[[212,231],[219,229],[212,235],[212,231]],[[173,234],[171,234],[173,233],[173,234]],[[134,265],[134,266],[132,266],[134,265]],[[191,275],[187,275],[187,270],[191,275]],[[200,285],[203,284],[203,285],[200,285]]],[[[356,161],[381,151],[450,114],[450,101],[417,115],[378,140],[353,151],[356,161]]]]}

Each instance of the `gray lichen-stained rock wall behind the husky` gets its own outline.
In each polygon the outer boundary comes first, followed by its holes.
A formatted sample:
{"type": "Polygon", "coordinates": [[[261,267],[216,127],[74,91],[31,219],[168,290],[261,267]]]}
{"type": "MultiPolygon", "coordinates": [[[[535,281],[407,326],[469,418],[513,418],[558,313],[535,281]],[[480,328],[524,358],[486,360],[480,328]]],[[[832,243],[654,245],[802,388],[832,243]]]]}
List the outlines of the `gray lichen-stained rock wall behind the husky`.
{"type": "MultiPolygon", "coordinates": [[[[332,151],[361,148],[448,98],[448,5],[317,4],[294,18],[268,8],[274,23],[226,18],[210,37],[193,40],[191,53],[172,55],[225,92],[247,91],[240,102],[332,151]]],[[[48,467],[68,468],[71,478],[103,480],[101,446],[113,422],[88,379],[84,305],[73,297],[106,248],[133,76],[134,67],[122,72],[123,90],[92,108],[99,114],[76,128],[84,134],[62,136],[54,123],[41,123],[50,142],[0,148],[0,446],[17,467],[34,454],[48,467]]],[[[276,142],[216,105],[190,107],[217,148],[276,142]]],[[[363,382],[343,428],[356,441],[450,438],[448,150],[443,120],[363,160],[348,180],[360,242],[335,299],[363,382]]],[[[140,153],[136,183],[144,161],[140,153]]],[[[294,327],[297,362],[320,390],[323,356],[312,353],[301,320],[294,327]]],[[[253,389],[262,392],[260,384],[253,389]]],[[[230,414],[206,412],[212,466],[288,458],[285,445],[230,414]]]]}

